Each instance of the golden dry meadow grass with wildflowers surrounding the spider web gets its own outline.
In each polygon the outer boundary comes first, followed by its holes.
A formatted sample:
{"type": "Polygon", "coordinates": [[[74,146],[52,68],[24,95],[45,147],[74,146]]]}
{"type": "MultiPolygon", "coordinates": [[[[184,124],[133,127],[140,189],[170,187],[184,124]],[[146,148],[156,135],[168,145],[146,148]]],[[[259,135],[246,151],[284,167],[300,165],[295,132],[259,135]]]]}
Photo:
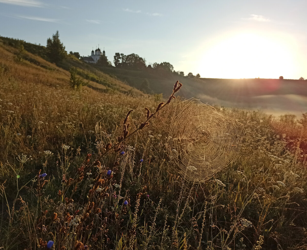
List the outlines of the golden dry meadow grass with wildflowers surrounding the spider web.
{"type": "Polygon", "coordinates": [[[187,183],[167,154],[180,98],[140,129],[157,96],[73,91],[41,58],[0,55],[1,248],[307,247],[305,116],[216,107],[244,124],[239,158],[187,183]]]}

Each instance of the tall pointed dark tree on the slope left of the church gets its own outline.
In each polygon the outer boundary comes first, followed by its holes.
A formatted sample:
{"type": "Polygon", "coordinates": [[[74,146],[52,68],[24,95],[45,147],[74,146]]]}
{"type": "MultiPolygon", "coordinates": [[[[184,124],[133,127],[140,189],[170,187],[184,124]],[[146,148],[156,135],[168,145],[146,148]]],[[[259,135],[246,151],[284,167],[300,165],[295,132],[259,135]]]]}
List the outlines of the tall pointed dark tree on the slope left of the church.
{"type": "Polygon", "coordinates": [[[52,39],[47,39],[46,54],[50,62],[58,63],[67,55],[65,46],[59,39],[59,31],[52,35],[52,39]]]}

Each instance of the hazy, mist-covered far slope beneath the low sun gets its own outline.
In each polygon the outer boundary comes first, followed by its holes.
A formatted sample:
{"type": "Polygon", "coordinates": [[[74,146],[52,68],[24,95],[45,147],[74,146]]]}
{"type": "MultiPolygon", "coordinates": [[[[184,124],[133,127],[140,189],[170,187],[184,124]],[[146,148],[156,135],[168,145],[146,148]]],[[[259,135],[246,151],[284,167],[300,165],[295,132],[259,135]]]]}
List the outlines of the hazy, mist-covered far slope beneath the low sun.
{"type": "Polygon", "coordinates": [[[131,86],[138,87],[144,79],[150,82],[153,93],[166,95],[169,81],[185,82],[181,95],[185,98],[198,98],[210,105],[263,109],[280,115],[295,113],[300,116],[307,107],[307,81],[290,79],[191,79],[174,74],[159,75],[151,71],[97,67],[114,75],[131,86]]]}

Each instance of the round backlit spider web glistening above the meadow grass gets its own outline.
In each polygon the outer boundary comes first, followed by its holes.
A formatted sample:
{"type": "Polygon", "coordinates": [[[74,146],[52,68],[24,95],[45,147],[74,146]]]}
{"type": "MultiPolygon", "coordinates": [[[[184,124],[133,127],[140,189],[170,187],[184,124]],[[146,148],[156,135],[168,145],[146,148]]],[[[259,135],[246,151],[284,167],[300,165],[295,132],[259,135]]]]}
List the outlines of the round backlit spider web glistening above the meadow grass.
{"type": "Polygon", "coordinates": [[[172,117],[169,155],[187,181],[206,181],[235,161],[244,134],[243,124],[191,98],[172,117]]]}

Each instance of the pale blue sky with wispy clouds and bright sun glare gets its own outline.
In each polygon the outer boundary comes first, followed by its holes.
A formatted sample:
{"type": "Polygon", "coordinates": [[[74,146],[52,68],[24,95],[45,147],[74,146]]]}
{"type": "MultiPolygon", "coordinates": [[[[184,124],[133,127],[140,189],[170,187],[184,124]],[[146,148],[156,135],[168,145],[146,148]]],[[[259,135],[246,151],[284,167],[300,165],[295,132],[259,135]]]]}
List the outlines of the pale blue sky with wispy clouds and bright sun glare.
{"type": "Polygon", "coordinates": [[[206,78],[307,78],[306,0],[0,0],[0,35],[138,54],[206,78]]]}

